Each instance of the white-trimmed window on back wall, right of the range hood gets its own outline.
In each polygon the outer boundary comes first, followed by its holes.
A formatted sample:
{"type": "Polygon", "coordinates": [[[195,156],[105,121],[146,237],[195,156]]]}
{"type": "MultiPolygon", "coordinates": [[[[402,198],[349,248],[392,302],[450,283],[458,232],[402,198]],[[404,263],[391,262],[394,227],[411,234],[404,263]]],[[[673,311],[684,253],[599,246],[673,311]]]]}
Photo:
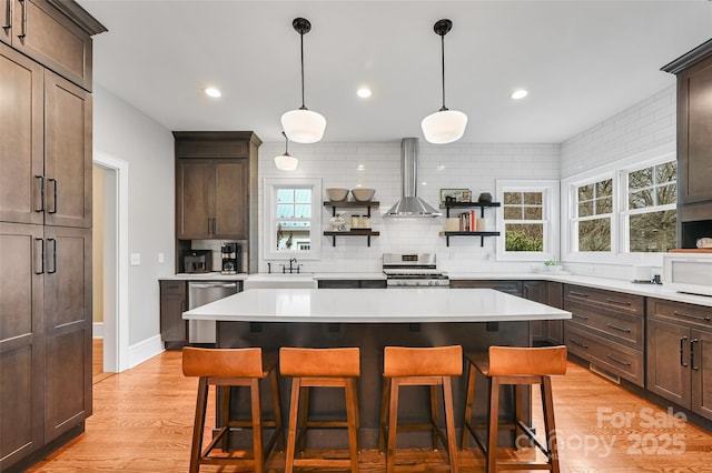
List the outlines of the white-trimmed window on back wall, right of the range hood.
{"type": "Polygon", "coordinates": [[[497,198],[504,227],[504,245],[497,246],[497,259],[555,260],[558,181],[497,181],[497,198]]]}

